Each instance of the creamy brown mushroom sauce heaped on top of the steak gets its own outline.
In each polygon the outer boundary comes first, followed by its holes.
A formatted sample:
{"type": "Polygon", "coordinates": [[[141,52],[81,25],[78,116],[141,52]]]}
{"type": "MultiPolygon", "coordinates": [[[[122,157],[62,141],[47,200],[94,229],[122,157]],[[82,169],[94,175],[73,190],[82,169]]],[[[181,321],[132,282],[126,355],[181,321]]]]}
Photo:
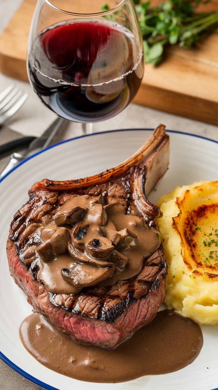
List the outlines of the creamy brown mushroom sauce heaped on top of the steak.
{"type": "Polygon", "coordinates": [[[134,277],[160,246],[159,232],[144,218],[127,215],[119,203],[104,206],[102,196],[73,197],[43,221],[38,280],[52,294],[134,277]]]}

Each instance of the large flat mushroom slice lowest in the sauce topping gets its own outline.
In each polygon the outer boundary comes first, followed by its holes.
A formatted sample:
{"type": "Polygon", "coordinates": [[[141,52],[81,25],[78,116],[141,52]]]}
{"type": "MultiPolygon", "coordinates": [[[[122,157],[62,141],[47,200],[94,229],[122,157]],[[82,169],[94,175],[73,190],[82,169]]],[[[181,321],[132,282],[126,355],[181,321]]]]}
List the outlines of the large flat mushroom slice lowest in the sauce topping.
{"type": "Polygon", "coordinates": [[[101,268],[93,264],[77,264],[71,269],[61,269],[63,278],[75,287],[89,287],[108,278],[113,273],[113,267],[101,268]]]}

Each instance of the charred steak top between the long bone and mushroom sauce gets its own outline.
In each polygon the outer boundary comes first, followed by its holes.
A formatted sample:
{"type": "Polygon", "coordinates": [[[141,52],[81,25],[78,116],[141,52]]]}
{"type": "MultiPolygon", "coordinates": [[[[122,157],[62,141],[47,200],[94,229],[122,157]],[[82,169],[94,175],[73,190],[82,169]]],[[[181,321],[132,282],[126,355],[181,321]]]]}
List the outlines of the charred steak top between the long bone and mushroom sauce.
{"type": "MultiPolygon", "coordinates": [[[[30,200],[24,204],[14,216],[10,225],[9,238],[16,243],[16,250],[19,259],[30,268],[30,271],[36,273],[35,263],[37,255],[35,249],[42,243],[40,236],[35,233],[42,224],[42,218],[46,215],[54,215],[60,207],[70,198],[78,195],[98,196],[104,193],[105,204],[114,204],[119,202],[127,210],[127,214],[141,216],[133,200],[133,188],[130,183],[134,181],[136,175],[134,167],[127,170],[124,177],[112,180],[109,183],[99,184],[94,187],[75,189],[72,191],[46,191],[38,190],[35,193],[30,192],[30,200]]],[[[140,169],[142,170],[142,168],[140,169]]],[[[148,203],[146,219],[152,221],[155,218],[154,207],[148,203]]],[[[159,209],[155,207],[155,212],[159,209]]],[[[156,223],[152,226],[157,228],[156,223]]]]}

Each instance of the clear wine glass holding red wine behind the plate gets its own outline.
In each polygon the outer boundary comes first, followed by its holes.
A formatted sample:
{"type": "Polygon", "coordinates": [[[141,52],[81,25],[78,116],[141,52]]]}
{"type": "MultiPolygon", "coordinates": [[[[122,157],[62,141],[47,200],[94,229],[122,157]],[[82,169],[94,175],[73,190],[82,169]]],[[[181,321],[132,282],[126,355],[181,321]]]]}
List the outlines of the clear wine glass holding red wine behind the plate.
{"type": "Polygon", "coordinates": [[[68,121],[103,121],[138,91],[143,41],[132,0],[38,0],[28,41],[30,83],[68,121]]]}

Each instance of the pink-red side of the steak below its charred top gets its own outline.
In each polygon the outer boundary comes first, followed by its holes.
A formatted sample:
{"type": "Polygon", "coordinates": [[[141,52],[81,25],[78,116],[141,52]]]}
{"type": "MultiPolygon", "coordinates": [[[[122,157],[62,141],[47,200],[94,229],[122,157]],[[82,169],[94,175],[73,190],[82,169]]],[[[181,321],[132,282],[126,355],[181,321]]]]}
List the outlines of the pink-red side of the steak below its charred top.
{"type": "MultiPolygon", "coordinates": [[[[151,282],[150,284],[149,282],[145,282],[145,286],[149,286],[146,294],[141,295],[140,287],[135,289],[135,297],[131,302],[129,301],[129,304],[126,305],[127,307],[125,307],[124,310],[120,311],[120,316],[116,321],[99,321],[99,319],[96,318],[90,318],[84,315],[81,316],[74,312],[70,312],[63,307],[55,306],[51,302],[49,293],[44,285],[38,283],[33,275],[26,270],[26,266],[23,262],[18,259],[15,245],[10,240],[8,240],[7,243],[7,253],[10,274],[14,278],[16,284],[23,289],[28,302],[33,306],[33,310],[47,315],[55,324],[56,328],[80,344],[114,348],[121,341],[130,337],[140,326],[149,323],[153,317],[155,317],[157,309],[165,297],[167,266],[164,261],[162,269],[154,282],[151,282]],[[138,298],[137,292],[141,295],[141,298],[138,298]]],[[[145,268],[145,271],[143,269],[135,280],[137,278],[146,277],[145,275],[148,275],[148,267],[150,266],[152,268],[152,264],[154,266],[159,264],[160,257],[162,257],[162,249],[148,258],[147,268],[145,268]],[[143,272],[145,275],[143,275],[143,272]]],[[[117,285],[117,287],[119,286],[117,285]]],[[[128,296],[126,287],[124,287],[123,290],[121,288],[119,292],[114,291],[114,293],[117,294],[116,298],[119,297],[118,294],[122,296],[122,293],[128,296]]],[[[89,295],[87,294],[87,300],[88,299],[89,295]]],[[[114,296],[111,301],[110,297],[106,299],[108,299],[108,305],[109,303],[112,305],[109,311],[110,316],[112,316],[112,312],[115,313],[116,310],[119,309],[119,303],[114,304],[114,296]]],[[[127,301],[128,298],[126,299],[126,302],[127,301]]],[[[91,308],[91,306],[89,307],[91,308]]]]}

